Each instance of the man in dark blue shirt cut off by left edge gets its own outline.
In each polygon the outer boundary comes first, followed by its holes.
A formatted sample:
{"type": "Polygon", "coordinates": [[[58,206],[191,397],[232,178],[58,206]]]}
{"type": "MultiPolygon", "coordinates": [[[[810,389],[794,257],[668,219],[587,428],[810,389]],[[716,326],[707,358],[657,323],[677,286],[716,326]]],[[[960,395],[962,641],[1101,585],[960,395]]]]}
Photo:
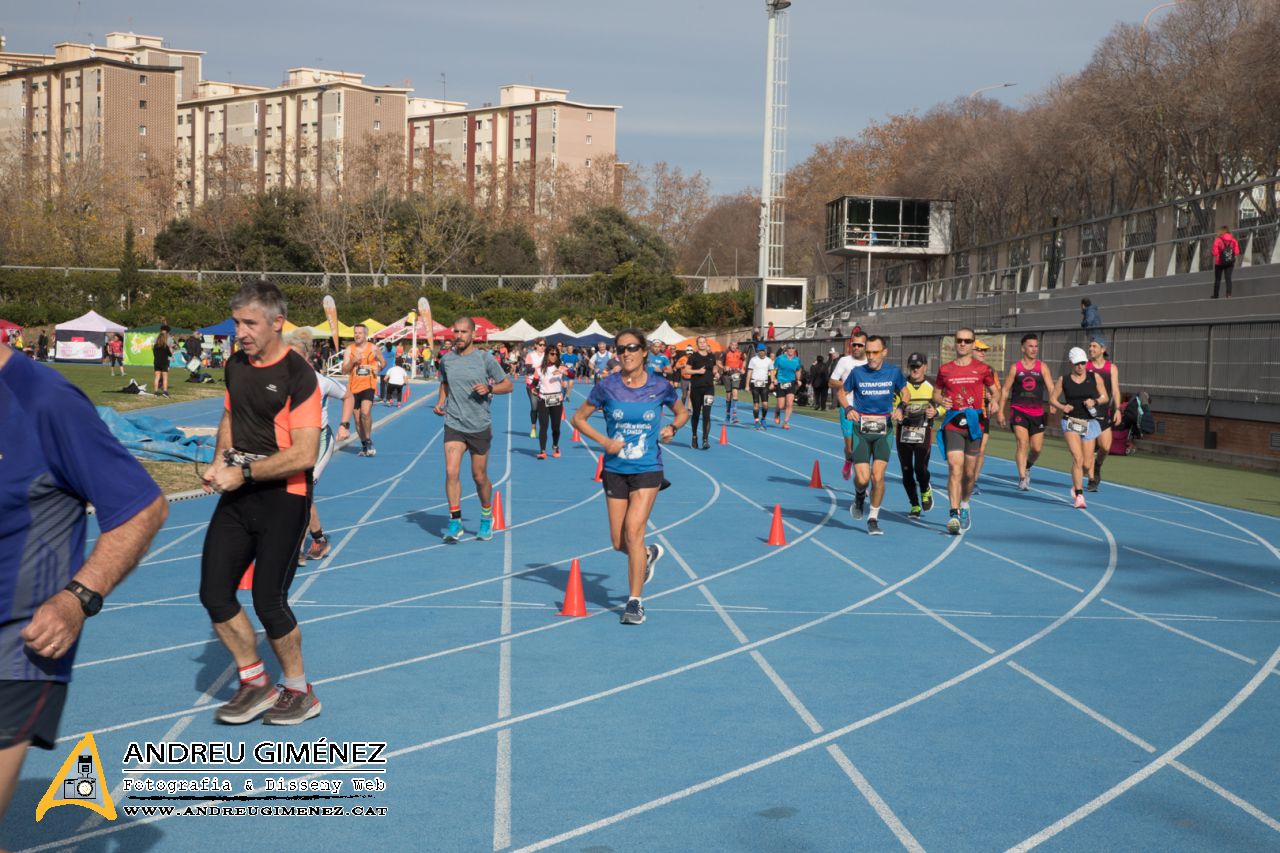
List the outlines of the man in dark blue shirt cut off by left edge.
{"type": "Polygon", "coordinates": [[[0,343],[0,822],[27,747],[58,740],[84,620],[168,515],[88,397],[0,343]],[[101,535],[86,560],[88,503],[101,535]]]}

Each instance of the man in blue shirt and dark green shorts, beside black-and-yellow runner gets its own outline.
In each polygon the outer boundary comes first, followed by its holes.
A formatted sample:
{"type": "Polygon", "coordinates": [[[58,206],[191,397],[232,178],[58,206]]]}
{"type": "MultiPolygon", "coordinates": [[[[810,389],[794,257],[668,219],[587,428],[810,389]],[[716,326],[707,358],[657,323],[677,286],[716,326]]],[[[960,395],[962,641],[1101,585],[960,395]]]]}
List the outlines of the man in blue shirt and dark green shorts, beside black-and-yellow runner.
{"type": "Polygon", "coordinates": [[[888,467],[892,424],[902,420],[893,397],[906,386],[906,377],[895,364],[884,364],[888,345],[873,334],[867,338],[867,364],[856,366],[836,392],[840,406],[854,425],[854,520],[867,507],[867,484],[872,483],[872,511],[867,533],[879,535],[879,507],[884,500],[884,469],[888,467]],[[891,423],[892,421],[892,423],[891,423]]]}

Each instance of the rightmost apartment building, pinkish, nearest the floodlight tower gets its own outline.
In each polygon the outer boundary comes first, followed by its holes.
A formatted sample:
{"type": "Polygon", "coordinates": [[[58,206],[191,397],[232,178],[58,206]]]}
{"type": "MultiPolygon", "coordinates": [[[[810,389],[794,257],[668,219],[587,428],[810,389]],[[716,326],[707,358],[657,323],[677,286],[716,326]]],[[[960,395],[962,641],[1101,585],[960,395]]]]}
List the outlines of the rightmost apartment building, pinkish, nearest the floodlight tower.
{"type": "Polygon", "coordinates": [[[461,168],[472,197],[516,175],[534,204],[539,172],[585,168],[617,154],[618,106],[571,101],[567,88],[509,85],[498,104],[458,109],[413,99],[408,117],[410,182],[439,163],[461,168]]]}

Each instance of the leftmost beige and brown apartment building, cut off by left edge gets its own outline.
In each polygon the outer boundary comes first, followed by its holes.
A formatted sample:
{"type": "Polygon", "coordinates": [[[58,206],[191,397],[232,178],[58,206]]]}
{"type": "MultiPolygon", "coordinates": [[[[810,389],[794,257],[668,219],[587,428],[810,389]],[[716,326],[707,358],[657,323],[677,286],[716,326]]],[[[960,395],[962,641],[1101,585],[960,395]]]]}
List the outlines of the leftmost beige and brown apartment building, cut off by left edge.
{"type": "Polygon", "coordinates": [[[26,156],[46,188],[74,163],[124,179],[166,174],[178,96],[198,79],[201,55],[134,33],[109,33],[105,47],[0,50],[0,147],[26,156]]]}

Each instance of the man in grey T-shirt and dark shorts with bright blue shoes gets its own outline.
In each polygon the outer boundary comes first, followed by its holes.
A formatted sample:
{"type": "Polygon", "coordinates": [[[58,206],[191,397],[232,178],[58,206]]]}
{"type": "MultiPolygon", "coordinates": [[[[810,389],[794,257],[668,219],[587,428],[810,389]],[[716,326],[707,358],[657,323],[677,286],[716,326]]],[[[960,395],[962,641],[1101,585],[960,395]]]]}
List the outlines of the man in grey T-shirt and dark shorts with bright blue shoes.
{"type": "Polygon", "coordinates": [[[476,539],[493,538],[493,484],[489,482],[489,443],[493,441],[489,401],[509,394],[511,379],[488,352],[475,347],[476,324],[468,316],[453,323],[454,346],[440,357],[440,398],[435,414],[444,415],[444,494],[449,501],[449,526],[444,540],[462,538],[462,453],[471,452],[471,478],[480,498],[476,539]]]}

